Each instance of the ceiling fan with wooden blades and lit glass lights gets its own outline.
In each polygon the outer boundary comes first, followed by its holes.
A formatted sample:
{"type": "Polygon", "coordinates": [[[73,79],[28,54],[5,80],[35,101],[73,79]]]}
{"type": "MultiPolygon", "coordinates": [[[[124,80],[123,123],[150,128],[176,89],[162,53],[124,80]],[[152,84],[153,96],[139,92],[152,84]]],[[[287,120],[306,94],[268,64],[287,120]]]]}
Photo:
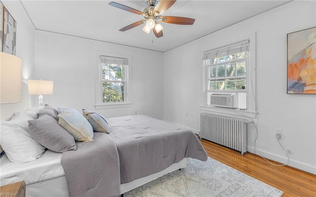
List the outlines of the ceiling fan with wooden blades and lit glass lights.
{"type": "Polygon", "coordinates": [[[186,17],[161,16],[161,14],[163,14],[167,9],[169,9],[175,1],[176,0],[147,0],[149,6],[146,7],[143,12],[113,1],[109,4],[119,9],[132,12],[134,14],[142,15],[145,18],[145,20],[132,23],[120,29],[119,31],[124,32],[126,30],[137,27],[143,23],[146,23],[146,25],[143,28],[144,32],[150,33],[150,30],[153,30],[156,37],[162,37],[163,27],[158,22],[171,23],[177,25],[192,25],[195,21],[195,19],[186,17]]]}

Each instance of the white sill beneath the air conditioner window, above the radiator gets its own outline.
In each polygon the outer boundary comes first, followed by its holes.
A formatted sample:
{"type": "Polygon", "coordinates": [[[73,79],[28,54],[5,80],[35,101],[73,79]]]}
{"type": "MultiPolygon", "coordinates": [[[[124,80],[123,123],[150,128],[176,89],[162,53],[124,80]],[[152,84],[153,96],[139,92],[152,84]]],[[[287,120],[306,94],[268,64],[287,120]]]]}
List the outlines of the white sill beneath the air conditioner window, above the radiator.
{"type": "Polygon", "coordinates": [[[240,110],[240,109],[228,109],[222,107],[214,107],[214,106],[205,106],[199,105],[199,108],[202,112],[211,112],[217,115],[222,116],[232,116],[236,118],[243,118],[243,119],[251,119],[256,118],[257,112],[255,111],[247,111],[247,110],[240,110]]]}

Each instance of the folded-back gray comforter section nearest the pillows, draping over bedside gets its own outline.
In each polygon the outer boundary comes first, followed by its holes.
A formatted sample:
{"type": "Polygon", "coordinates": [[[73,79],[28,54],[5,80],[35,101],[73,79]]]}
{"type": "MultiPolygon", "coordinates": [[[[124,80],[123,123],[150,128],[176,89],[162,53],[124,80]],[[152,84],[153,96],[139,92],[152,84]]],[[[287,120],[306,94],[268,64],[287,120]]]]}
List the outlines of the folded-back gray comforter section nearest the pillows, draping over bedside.
{"type": "Polygon", "coordinates": [[[77,142],[77,151],[63,152],[70,197],[120,195],[118,151],[107,133],[94,132],[93,142],[77,142]]]}

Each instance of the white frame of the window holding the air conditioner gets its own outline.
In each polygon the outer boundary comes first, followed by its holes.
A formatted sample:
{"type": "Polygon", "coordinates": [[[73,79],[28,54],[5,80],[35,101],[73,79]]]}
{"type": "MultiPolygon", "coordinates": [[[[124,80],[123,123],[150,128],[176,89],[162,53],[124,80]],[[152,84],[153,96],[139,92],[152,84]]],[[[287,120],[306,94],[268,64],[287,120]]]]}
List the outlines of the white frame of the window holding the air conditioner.
{"type": "MultiPolygon", "coordinates": [[[[249,40],[249,50],[247,57],[247,66],[246,66],[246,91],[247,92],[247,109],[230,109],[223,107],[215,107],[207,105],[207,93],[208,91],[208,68],[205,64],[205,61],[202,61],[203,65],[203,77],[202,77],[202,95],[201,95],[201,105],[199,106],[200,110],[203,112],[211,112],[218,115],[229,115],[234,117],[243,117],[243,118],[256,118],[256,33],[251,33],[248,35],[241,36],[234,40],[225,41],[214,45],[212,49],[204,50],[203,54],[207,51],[216,50],[223,48],[225,46],[230,46],[234,43],[239,43],[245,40],[249,40]]],[[[212,92],[217,93],[229,93],[229,92],[238,92],[238,91],[218,91],[214,90],[212,92]]],[[[242,92],[242,91],[239,91],[242,92]]],[[[244,92],[244,91],[243,91],[244,92]]]]}

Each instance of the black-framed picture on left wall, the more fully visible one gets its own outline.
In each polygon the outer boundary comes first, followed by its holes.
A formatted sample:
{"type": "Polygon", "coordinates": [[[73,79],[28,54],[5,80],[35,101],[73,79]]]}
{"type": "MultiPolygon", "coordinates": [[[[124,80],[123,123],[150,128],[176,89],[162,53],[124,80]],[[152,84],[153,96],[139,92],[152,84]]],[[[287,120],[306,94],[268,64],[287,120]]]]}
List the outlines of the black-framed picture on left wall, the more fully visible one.
{"type": "Polygon", "coordinates": [[[16,48],[16,21],[8,12],[6,7],[3,9],[3,44],[2,50],[5,53],[15,55],[16,48]]]}

